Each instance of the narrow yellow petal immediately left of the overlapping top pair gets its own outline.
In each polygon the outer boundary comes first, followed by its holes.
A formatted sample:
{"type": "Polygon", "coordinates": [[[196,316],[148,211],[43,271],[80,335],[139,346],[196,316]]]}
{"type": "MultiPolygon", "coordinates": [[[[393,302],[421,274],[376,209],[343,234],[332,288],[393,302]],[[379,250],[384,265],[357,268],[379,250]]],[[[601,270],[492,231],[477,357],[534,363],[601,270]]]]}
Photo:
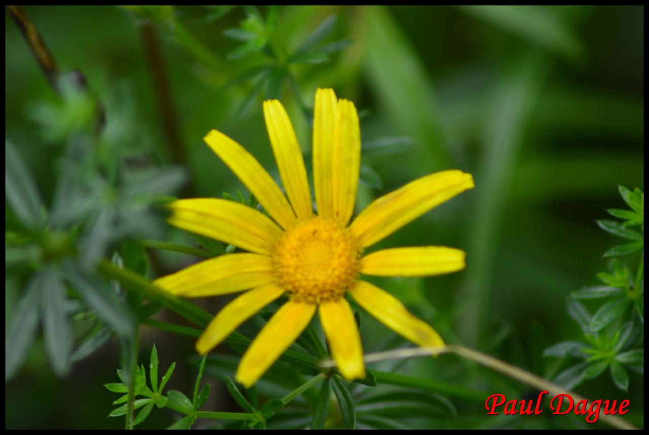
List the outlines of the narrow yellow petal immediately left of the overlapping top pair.
{"type": "Polygon", "coordinates": [[[297,217],[308,219],[313,216],[311,192],[291,120],[277,100],[263,102],[263,116],[286,194],[297,217]]]}

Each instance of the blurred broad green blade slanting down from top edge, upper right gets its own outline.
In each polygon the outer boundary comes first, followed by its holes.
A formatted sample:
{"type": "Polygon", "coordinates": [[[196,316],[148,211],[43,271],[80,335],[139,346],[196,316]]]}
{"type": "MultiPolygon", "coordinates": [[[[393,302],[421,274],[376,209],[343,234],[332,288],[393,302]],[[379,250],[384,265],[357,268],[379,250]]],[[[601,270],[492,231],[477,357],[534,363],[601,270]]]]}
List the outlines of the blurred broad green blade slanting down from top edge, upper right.
{"type": "Polygon", "coordinates": [[[461,8],[561,55],[575,58],[583,53],[582,45],[559,15],[552,13],[551,6],[472,5],[461,8]]]}

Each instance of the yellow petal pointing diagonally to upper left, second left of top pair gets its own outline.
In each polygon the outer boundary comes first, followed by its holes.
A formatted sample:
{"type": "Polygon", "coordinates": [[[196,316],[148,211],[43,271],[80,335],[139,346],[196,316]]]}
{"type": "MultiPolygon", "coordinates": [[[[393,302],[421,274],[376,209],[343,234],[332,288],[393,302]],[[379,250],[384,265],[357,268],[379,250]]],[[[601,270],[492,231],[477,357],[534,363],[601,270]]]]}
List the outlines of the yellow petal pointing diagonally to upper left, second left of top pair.
{"type": "Polygon", "coordinates": [[[288,228],[295,222],[295,214],[284,193],[251,153],[216,130],[210,131],[204,140],[280,226],[288,228]]]}

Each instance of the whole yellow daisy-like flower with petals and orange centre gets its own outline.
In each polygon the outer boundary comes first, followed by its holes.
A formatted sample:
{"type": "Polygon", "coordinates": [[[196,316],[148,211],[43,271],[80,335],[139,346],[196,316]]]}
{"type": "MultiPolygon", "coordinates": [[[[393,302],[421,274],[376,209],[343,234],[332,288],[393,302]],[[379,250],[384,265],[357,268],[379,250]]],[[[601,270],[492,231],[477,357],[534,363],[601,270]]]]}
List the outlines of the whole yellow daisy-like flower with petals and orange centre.
{"type": "Polygon", "coordinates": [[[263,103],[263,115],[286,195],[257,160],[218,131],[205,142],[234,171],[272,217],[225,199],[181,199],[169,205],[169,223],[249,251],[206,260],[156,280],[182,297],[243,293],[225,306],[196,343],[205,354],[243,321],[282,295],[288,296],[243,355],[236,379],[251,386],[295,341],[315,311],[334,361],[347,379],[365,377],[354,300],[376,319],[422,347],[443,347],[432,327],[395,297],[360,279],[361,274],[421,277],[457,271],[465,253],[438,246],[363,249],[431,208],[473,187],[458,170],[422,177],[376,199],[349,224],[360,170],[361,138],[354,104],[331,89],[315,93],[313,210],[306,169],[286,110],[263,103]],[[348,225],[349,224],[349,225],[348,225]],[[252,289],[252,290],[249,290],[252,289]]]}

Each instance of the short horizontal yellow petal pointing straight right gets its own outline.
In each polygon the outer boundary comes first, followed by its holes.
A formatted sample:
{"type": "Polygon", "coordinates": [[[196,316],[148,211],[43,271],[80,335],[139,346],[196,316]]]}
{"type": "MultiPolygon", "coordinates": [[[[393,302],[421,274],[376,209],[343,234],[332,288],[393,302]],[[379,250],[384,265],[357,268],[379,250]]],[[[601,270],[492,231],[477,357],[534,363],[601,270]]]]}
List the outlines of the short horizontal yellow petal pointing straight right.
{"type": "Polygon", "coordinates": [[[382,277],[425,277],[465,267],[465,253],[445,246],[384,249],[361,259],[361,273],[382,277]]]}

